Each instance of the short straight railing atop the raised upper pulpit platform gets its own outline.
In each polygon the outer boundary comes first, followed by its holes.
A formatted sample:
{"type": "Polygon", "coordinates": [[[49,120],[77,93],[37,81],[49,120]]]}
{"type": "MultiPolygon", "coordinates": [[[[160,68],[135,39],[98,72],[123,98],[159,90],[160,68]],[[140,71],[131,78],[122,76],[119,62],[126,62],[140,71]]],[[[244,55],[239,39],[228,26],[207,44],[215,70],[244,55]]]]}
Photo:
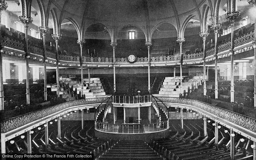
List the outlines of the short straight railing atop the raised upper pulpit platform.
{"type": "Polygon", "coordinates": [[[147,103],[152,102],[151,95],[142,95],[142,96],[112,96],[112,101],[114,103],[147,103]]]}

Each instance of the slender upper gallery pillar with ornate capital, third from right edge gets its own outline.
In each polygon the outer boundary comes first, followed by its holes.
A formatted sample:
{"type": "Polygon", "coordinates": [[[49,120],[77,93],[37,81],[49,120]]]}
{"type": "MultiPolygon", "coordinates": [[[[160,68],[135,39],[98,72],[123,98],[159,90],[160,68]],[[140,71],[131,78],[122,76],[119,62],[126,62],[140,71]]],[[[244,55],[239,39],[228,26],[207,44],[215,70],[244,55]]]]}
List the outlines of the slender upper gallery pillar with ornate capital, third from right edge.
{"type": "MultiPolygon", "coordinates": [[[[218,47],[217,47],[217,40],[218,40],[218,30],[221,28],[220,24],[215,24],[211,26],[212,30],[214,31],[214,36],[215,36],[215,44],[214,44],[214,57],[215,57],[215,99],[218,99],[218,47]]],[[[208,74],[208,69],[207,69],[207,74],[208,74]]],[[[208,78],[208,77],[207,77],[208,78]]]]}

